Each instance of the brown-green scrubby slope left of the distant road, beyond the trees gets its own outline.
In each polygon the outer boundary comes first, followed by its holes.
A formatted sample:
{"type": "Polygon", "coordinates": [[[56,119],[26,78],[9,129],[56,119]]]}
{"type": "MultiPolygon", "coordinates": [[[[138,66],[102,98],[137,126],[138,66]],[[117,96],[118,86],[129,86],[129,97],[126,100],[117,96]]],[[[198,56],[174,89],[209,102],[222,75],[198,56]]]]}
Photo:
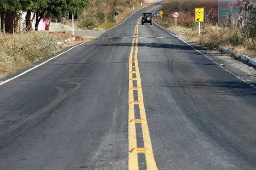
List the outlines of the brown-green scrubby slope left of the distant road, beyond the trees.
{"type": "MultiPolygon", "coordinates": [[[[147,5],[142,0],[92,0],[88,9],[79,17],[77,27],[82,29],[103,28],[109,29],[124,21],[132,12],[147,5]],[[132,7],[134,4],[134,10],[132,7]],[[118,12],[115,21],[115,12],[118,12]]],[[[150,1],[152,2],[152,1],[150,1]]]]}

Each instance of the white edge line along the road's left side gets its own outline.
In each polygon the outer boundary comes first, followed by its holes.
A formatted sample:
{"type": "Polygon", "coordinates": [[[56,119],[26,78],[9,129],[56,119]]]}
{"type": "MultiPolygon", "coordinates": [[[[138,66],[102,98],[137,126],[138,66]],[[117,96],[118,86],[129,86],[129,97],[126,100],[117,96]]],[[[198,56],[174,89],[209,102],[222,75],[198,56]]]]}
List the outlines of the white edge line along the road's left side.
{"type": "MultiPolygon", "coordinates": [[[[160,1],[163,1],[163,0],[160,0],[160,1]]],[[[160,1],[156,1],[156,2],[154,2],[154,3],[157,3],[157,2],[160,2],[160,1]]],[[[144,7],[147,7],[147,6],[152,5],[152,4],[154,4],[154,3],[148,4],[148,5],[144,6],[144,7]]],[[[132,14],[134,14],[135,12],[137,12],[137,11],[143,9],[144,7],[142,7],[142,8],[140,8],[140,9],[134,11],[132,14]]],[[[132,14],[131,14],[131,15],[132,15],[132,14]]],[[[126,19],[128,19],[131,15],[129,15],[126,19]]],[[[120,24],[124,23],[124,22],[126,21],[126,19],[125,19],[123,22],[121,22],[120,24]]],[[[119,26],[120,24],[118,24],[117,26],[119,26]]],[[[117,26],[115,26],[115,27],[117,27],[117,26]]],[[[112,28],[115,28],[115,27],[112,27],[112,28]]],[[[108,29],[108,30],[106,30],[106,31],[109,31],[109,30],[111,30],[112,28],[110,28],[110,29],[108,29]]],[[[106,32],[106,31],[104,31],[104,32],[106,32]]],[[[104,32],[102,32],[102,33],[104,33],[104,32]]],[[[102,34],[102,33],[100,33],[100,34],[102,34]]],[[[99,34],[99,35],[100,35],[100,34],[99,34]]],[[[99,35],[97,35],[97,36],[99,36],[99,35]]],[[[96,36],[96,37],[97,37],[97,36],[96,36]]],[[[90,41],[90,40],[88,40],[88,41],[90,41]]],[[[53,58],[50,58],[50,59],[48,59],[47,61],[45,61],[45,62],[43,62],[43,63],[41,63],[41,64],[39,64],[39,65],[37,65],[37,66],[34,66],[33,68],[30,68],[30,69],[28,69],[27,71],[25,71],[25,72],[23,72],[23,73],[21,73],[21,74],[15,76],[15,77],[12,77],[12,78],[10,78],[10,79],[8,79],[8,80],[5,80],[5,81],[1,82],[1,83],[0,83],[0,86],[1,86],[2,84],[7,83],[8,81],[11,81],[11,80],[13,80],[13,79],[15,79],[15,78],[17,78],[17,77],[20,77],[20,76],[22,76],[22,75],[24,75],[24,74],[30,72],[31,70],[33,70],[33,69],[35,69],[35,68],[37,68],[37,67],[39,67],[39,66],[41,66],[41,65],[43,65],[43,64],[45,64],[45,63],[47,63],[48,61],[51,61],[52,59],[55,59],[56,57],[59,57],[60,55],[66,53],[66,52],[72,50],[73,48],[75,48],[75,47],[77,47],[77,46],[80,46],[80,45],[82,45],[82,44],[84,44],[84,43],[86,43],[86,42],[88,42],[88,41],[85,41],[85,42],[83,42],[83,43],[81,43],[81,44],[79,44],[79,45],[76,45],[76,46],[70,48],[69,50],[62,52],[62,53],[58,54],[57,56],[55,56],[55,57],[53,57],[53,58]]]]}

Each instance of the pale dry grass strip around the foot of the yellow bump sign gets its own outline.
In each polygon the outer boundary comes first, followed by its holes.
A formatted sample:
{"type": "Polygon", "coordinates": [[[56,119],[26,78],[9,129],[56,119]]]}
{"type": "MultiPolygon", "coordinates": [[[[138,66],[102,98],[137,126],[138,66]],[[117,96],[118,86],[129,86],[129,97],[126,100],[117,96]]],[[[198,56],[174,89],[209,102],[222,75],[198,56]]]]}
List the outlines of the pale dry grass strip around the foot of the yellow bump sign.
{"type": "Polygon", "coordinates": [[[256,59],[256,49],[249,49],[248,42],[241,36],[239,30],[236,28],[204,26],[204,28],[200,30],[200,36],[198,36],[197,27],[186,28],[172,26],[168,27],[168,29],[180,35],[183,34],[182,36],[192,43],[212,48],[215,48],[216,45],[221,45],[256,59]]]}

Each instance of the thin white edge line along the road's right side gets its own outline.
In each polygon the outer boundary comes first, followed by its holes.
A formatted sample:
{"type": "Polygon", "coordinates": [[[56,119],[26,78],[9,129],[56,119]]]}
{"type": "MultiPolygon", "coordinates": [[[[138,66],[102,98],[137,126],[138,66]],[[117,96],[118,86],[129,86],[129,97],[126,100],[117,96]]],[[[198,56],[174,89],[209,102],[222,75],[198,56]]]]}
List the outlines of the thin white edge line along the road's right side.
{"type": "MultiPolygon", "coordinates": [[[[159,12],[159,11],[158,11],[159,12]]],[[[157,12],[157,13],[158,13],[157,12]]],[[[157,14],[156,13],[156,14],[157,14]]],[[[156,14],[154,15],[154,17],[156,16],[156,14]]],[[[153,17],[153,19],[154,19],[153,17]]],[[[153,21],[154,22],[154,21],[153,21]]],[[[154,22],[155,23],[155,22],[154,22]]],[[[156,24],[156,23],[155,23],[156,24]]],[[[162,28],[161,26],[159,26],[158,24],[156,24],[158,27],[162,28]]],[[[172,34],[171,32],[169,32],[168,30],[166,30],[165,28],[162,28],[163,30],[167,31],[168,33],[170,33],[172,36],[178,37],[174,34],[172,34]]],[[[243,81],[244,83],[248,84],[249,86],[253,87],[254,89],[256,89],[256,86],[254,86],[253,84],[249,83],[248,81],[244,80],[243,78],[239,77],[238,75],[232,73],[231,71],[229,71],[227,68],[225,68],[222,65],[219,65],[219,63],[217,63],[216,61],[214,61],[213,59],[211,59],[209,56],[205,55],[204,53],[202,53],[201,51],[197,50],[193,45],[187,43],[186,41],[182,40],[182,39],[178,39],[183,41],[184,43],[186,43],[187,45],[189,45],[191,48],[193,48],[195,51],[199,52],[201,55],[203,55],[204,57],[208,58],[209,60],[211,60],[214,64],[220,66],[221,68],[223,68],[226,72],[228,72],[229,74],[233,75],[234,77],[238,78],[239,80],[243,81]]]]}

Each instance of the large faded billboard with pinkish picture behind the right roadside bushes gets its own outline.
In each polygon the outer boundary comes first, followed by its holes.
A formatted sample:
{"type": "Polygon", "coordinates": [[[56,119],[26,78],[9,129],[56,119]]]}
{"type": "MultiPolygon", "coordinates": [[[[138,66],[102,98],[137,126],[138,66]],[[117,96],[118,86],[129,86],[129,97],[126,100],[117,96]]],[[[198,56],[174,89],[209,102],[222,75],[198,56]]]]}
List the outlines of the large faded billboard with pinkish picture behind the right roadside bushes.
{"type": "Polygon", "coordinates": [[[238,18],[248,17],[248,9],[256,7],[256,2],[246,0],[219,0],[218,5],[218,24],[226,25],[229,23],[228,18],[234,19],[237,24],[238,18]]]}

